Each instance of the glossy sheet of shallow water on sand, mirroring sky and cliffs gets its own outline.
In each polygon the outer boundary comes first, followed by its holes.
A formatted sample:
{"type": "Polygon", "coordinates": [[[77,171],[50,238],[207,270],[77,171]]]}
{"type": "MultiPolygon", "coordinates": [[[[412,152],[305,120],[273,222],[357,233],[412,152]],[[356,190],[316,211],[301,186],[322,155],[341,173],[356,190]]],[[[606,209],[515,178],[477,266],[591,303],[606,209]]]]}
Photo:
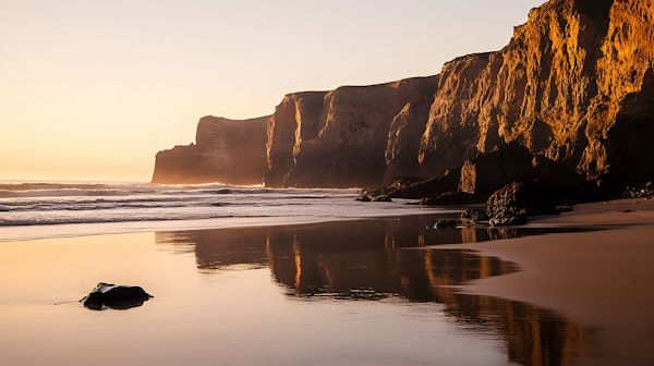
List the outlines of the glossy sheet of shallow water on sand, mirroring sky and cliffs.
{"type": "Polygon", "coordinates": [[[0,243],[0,364],[567,365],[585,352],[589,329],[452,288],[514,264],[432,246],[511,232],[433,220],[0,243]],[[155,297],[75,302],[99,281],[155,297]]]}

